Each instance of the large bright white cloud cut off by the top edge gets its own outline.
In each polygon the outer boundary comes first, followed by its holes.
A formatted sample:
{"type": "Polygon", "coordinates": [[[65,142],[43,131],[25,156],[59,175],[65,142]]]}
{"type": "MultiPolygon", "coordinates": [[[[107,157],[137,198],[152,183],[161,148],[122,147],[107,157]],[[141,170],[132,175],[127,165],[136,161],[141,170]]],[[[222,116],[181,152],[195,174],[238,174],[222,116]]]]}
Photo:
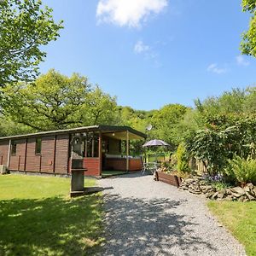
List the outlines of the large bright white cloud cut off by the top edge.
{"type": "Polygon", "coordinates": [[[168,0],[100,0],[96,17],[100,22],[139,27],[149,15],[159,14],[167,5],[168,0]]]}

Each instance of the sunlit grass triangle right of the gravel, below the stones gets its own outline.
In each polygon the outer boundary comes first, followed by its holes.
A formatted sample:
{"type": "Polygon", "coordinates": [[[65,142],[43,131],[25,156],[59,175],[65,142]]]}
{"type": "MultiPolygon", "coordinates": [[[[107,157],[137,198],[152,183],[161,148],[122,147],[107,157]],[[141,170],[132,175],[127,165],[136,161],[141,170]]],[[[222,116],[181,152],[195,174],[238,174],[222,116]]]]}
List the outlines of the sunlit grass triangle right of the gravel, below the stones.
{"type": "Polygon", "coordinates": [[[244,245],[247,255],[256,255],[256,202],[209,201],[208,207],[244,245]]]}

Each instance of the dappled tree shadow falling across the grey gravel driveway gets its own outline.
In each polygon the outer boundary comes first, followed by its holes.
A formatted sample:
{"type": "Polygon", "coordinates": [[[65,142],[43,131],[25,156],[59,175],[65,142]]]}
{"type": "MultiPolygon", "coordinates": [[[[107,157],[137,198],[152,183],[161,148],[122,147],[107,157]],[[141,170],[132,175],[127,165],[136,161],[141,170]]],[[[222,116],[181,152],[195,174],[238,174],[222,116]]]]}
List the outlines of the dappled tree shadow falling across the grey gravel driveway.
{"type": "Polygon", "coordinates": [[[186,221],[184,215],[175,213],[185,201],[119,195],[105,195],[105,201],[104,255],[197,255],[200,251],[204,255],[204,248],[211,255],[216,253],[212,244],[195,233],[198,224],[193,219],[186,221]]]}

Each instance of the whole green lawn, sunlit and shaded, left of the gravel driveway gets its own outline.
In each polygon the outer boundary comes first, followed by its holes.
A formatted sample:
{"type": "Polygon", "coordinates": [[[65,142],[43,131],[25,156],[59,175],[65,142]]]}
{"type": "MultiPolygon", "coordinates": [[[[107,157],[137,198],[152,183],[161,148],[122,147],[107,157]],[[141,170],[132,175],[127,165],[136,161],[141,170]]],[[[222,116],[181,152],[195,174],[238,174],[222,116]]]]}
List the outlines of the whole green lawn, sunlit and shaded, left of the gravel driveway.
{"type": "Polygon", "coordinates": [[[69,189],[69,178],[0,176],[0,255],[96,253],[103,240],[101,197],[70,199],[69,189]]]}

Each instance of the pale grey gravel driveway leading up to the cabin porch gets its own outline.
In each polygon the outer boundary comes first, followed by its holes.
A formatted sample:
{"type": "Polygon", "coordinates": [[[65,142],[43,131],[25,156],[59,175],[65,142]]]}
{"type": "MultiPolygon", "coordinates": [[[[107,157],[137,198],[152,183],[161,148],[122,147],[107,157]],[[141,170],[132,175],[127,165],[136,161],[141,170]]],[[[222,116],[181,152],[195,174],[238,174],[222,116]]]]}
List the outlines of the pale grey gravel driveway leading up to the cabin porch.
{"type": "Polygon", "coordinates": [[[246,255],[201,195],[141,173],[99,183],[106,188],[103,255],[246,255]]]}

